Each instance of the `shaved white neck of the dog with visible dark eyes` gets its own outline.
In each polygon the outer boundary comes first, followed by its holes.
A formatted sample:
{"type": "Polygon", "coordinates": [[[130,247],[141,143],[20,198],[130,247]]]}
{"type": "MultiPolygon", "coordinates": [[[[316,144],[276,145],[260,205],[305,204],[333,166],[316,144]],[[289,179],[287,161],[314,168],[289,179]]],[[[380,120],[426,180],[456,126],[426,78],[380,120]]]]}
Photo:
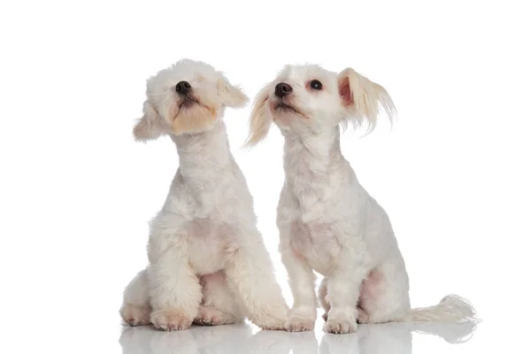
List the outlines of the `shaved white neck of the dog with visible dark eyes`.
{"type": "Polygon", "coordinates": [[[284,135],[284,172],[294,183],[323,181],[344,158],[335,127],[316,135],[284,135]]]}

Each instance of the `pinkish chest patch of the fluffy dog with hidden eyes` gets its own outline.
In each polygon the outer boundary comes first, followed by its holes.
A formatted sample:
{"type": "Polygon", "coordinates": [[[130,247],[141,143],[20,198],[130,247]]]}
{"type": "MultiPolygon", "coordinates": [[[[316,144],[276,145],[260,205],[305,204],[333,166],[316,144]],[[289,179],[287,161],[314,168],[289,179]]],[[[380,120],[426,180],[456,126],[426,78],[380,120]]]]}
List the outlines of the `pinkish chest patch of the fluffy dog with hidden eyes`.
{"type": "Polygon", "coordinates": [[[196,274],[218,272],[225,267],[228,227],[194,221],[189,229],[189,264],[196,274]]]}

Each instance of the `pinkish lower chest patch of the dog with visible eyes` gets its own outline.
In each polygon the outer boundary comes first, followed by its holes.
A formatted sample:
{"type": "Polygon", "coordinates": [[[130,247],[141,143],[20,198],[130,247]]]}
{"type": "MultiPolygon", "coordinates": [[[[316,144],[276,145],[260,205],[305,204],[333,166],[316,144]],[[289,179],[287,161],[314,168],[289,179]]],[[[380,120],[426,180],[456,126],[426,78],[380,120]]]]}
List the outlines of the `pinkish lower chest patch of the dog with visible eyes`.
{"type": "Polygon", "coordinates": [[[326,275],[334,269],[341,248],[330,224],[294,221],[290,228],[291,247],[303,255],[315,271],[326,275]]]}

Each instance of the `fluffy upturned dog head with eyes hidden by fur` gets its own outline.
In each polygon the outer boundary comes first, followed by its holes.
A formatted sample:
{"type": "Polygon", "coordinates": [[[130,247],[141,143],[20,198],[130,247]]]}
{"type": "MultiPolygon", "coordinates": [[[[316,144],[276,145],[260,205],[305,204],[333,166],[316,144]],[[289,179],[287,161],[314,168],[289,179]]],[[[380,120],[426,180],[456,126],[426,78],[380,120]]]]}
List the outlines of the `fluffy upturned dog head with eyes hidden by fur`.
{"type": "Polygon", "coordinates": [[[221,119],[226,106],[241,107],[249,101],[211,65],[190,59],[150,77],[146,96],[143,116],[133,129],[138,141],[204,132],[221,119]]]}

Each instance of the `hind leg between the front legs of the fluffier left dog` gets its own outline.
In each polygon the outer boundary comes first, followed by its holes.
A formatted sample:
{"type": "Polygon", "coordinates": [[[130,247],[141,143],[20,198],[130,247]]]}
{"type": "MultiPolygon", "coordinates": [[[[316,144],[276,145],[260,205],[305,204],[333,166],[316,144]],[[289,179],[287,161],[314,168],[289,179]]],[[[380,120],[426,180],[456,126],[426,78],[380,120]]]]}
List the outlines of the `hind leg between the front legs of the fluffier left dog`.
{"type": "Polygon", "coordinates": [[[219,271],[201,277],[203,301],[194,323],[204,326],[241,323],[245,319],[241,301],[228,289],[225,273],[219,271]]]}

